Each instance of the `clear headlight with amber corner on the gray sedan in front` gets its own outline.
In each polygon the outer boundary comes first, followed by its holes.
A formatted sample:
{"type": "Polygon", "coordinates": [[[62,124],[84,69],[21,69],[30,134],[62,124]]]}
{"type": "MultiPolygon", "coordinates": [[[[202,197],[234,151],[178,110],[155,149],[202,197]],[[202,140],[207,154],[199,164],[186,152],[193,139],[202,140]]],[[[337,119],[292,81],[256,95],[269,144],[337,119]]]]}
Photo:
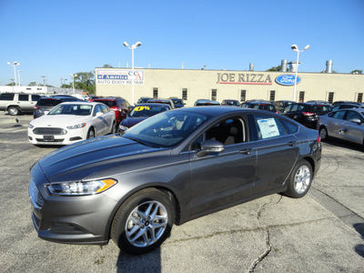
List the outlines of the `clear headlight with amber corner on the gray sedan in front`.
{"type": "Polygon", "coordinates": [[[114,179],[63,182],[47,186],[49,192],[60,196],[86,196],[99,194],[116,185],[114,179]]]}

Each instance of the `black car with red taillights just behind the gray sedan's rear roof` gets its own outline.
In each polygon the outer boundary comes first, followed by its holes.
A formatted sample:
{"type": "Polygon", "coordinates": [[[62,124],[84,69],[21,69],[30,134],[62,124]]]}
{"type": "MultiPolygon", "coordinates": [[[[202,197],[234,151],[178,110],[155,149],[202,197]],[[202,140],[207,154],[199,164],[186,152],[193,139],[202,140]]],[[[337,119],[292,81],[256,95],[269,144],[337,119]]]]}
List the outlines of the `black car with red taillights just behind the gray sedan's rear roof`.
{"type": "Polygon", "coordinates": [[[296,120],[303,126],[315,129],[319,116],[328,114],[331,110],[332,107],[329,105],[294,103],[287,106],[282,114],[296,120]]]}

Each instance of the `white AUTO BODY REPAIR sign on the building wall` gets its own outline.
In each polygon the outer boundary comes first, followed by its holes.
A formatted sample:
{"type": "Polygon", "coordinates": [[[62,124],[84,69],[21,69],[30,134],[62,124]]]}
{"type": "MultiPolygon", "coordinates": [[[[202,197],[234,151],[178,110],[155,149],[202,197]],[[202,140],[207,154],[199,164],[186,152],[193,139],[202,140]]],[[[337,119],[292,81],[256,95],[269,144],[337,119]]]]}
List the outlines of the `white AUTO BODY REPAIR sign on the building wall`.
{"type": "MultiPolygon", "coordinates": [[[[133,71],[131,69],[99,69],[97,70],[97,85],[131,85],[133,71]]],[[[134,84],[144,85],[144,70],[134,69],[134,84]]]]}

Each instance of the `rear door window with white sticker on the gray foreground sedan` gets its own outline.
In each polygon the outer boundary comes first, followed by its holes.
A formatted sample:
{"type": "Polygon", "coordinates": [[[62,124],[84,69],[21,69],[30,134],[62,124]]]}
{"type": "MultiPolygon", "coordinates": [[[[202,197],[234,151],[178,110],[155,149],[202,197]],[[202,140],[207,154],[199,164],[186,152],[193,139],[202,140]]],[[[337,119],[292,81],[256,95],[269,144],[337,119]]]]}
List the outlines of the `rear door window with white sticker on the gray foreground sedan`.
{"type": "Polygon", "coordinates": [[[258,139],[268,139],[277,136],[286,136],[287,131],[277,117],[255,115],[258,139]]]}

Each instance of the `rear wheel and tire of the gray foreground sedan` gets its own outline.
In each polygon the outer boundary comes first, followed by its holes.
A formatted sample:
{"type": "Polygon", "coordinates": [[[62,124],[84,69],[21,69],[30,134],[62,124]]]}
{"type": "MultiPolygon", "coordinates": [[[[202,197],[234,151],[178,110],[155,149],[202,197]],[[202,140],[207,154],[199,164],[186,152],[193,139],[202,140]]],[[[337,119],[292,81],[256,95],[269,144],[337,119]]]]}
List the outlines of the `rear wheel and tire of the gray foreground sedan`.
{"type": "Polygon", "coordinates": [[[288,180],[288,188],[283,193],[292,198],[304,197],[311,187],[313,178],[312,166],[307,160],[301,160],[293,168],[293,171],[288,180]]]}

